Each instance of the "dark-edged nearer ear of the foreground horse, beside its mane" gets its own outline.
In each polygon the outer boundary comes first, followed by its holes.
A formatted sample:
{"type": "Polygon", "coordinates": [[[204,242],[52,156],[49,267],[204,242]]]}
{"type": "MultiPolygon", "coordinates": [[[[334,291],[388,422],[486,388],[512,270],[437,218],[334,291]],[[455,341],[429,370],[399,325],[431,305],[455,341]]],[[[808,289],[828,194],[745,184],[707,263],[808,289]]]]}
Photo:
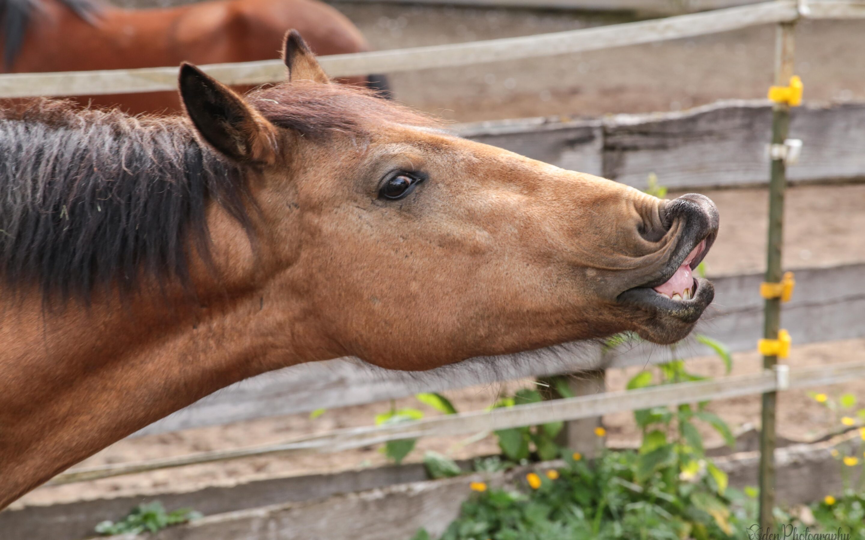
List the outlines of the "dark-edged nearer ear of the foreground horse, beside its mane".
{"type": "Polygon", "coordinates": [[[195,129],[222,154],[259,164],[276,159],[276,128],[230,88],[183,62],[180,95],[195,129]]]}

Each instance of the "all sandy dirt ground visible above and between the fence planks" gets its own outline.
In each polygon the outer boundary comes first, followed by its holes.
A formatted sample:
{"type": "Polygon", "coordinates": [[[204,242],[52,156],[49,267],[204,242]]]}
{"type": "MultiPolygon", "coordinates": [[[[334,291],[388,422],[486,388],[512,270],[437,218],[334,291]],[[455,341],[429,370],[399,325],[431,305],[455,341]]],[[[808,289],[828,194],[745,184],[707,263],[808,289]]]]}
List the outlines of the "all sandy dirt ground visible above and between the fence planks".
{"type": "MultiPolygon", "coordinates": [[[[128,1],[126,3],[129,3],[128,1]]],[[[170,0],[140,0],[172,3],[170,0]]],[[[587,28],[631,20],[620,15],[565,11],[490,10],[420,7],[400,4],[334,3],[362,29],[375,48],[404,48],[435,43],[473,41],[587,28]]],[[[812,102],[865,99],[865,21],[802,22],[799,24],[797,73],[812,102]]],[[[762,98],[772,80],[774,30],[746,29],[722,35],[677,40],[586,54],[562,55],[475,67],[397,73],[391,77],[401,101],[461,122],[496,118],[579,113],[669,111],[710,103],[720,98],[762,98]]],[[[707,194],[721,209],[721,234],[706,263],[710,276],[760,270],[766,242],[766,191],[737,189],[707,194]]],[[[672,194],[675,195],[675,194],[672,194]]],[[[821,266],[865,260],[865,185],[796,187],[787,203],[785,267],[821,266]]],[[[865,324],[865,321],[850,321],[865,324]]],[[[865,359],[865,340],[794,347],[790,364],[828,365],[865,359]]],[[[721,375],[717,361],[694,361],[695,371],[721,375]]],[[[734,373],[755,372],[755,353],[735,355],[734,373]]],[[[611,371],[610,390],[622,389],[638,368],[611,371]]],[[[492,403],[498,392],[531,384],[516,381],[447,392],[458,410],[477,410],[492,403]]],[[[836,395],[854,392],[865,400],[865,381],[826,389],[836,395]]],[[[368,425],[388,403],[330,410],[315,420],[305,415],[281,416],[232,425],[149,435],[118,442],[81,466],[141,461],[211,449],[240,448],[278,442],[307,433],[368,425]]],[[[413,398],[397,406],[413,406],[437,414],[413,398]]],[[[734,427],[756,423],[759,397],[716,402],[711,409],[734,427]]],[[[630,414],[606,416],[609,443],[625,445],[638,439],[630,414]]],[[[831,429],[823,408],[804,391],[785,392],[779,403],[779,434],[808,439],[831,429]]],[[[713,434],[710,441],[718,442],[713,434]]],[[[487,436],[421,440],[409,461],[434,449],[453,457],[497,451],[487,436]]],[[[238,480],[272,475],[335,472],[383,464],[376,448],[339,454],[288,458],[270,457],[221,464],[182,467],[73,484],[43,487],[16,502],[50,504],[104,496],[191,490],[230,485],[238,480]]]]}

